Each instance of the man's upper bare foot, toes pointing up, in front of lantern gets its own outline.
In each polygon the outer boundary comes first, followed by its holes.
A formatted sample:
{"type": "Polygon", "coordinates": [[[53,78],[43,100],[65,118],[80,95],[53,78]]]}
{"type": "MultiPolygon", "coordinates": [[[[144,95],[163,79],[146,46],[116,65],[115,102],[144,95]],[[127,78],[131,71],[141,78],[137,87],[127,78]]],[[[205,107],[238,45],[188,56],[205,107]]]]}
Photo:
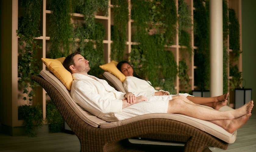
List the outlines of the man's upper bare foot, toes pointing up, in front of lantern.
{"type": "Polygon", "coordinates": [[[250,101],[245,105],[243,105],[242,107],[232,110],[230,112],[233,114],[234,118],[238,118],[248,113],[251,113],[252,108],[253,108],[253,101],[250,101]]]}

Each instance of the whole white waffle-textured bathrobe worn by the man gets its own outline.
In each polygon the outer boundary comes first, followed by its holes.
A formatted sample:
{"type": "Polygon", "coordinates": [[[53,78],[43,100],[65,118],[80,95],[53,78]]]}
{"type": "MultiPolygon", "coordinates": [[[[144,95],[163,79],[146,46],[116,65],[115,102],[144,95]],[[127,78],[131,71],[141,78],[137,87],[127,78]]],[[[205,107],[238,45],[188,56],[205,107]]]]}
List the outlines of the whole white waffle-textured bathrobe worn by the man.
{"type": "Polygon", "coordinates": [[[166,113],[171,96],[154,96],[122,109],[125,93],[118,92],[107,81],[91,75],[72,74],[70,91],[74,101],[91,114],[108,122],[148,113],[166,113]]]}

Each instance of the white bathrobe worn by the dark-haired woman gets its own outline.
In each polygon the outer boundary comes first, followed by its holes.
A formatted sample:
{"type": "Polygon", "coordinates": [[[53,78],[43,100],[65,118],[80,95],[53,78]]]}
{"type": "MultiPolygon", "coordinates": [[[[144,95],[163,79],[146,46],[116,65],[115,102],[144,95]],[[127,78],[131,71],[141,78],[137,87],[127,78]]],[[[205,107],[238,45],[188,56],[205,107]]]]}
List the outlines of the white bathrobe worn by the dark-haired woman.
{"type": "MultiPolygon", "coordinates": [[[[136,96],[144,95],[147,98],[152,97],[155,95],[155,92],[163,91],[163,90],[155,90],[146,80],[139,79],[133,76],[127,76],[125,81],[123,82],[123,87],[126,92],[134,92],[136,96]]],[[[164,91],[167,92],[167,91],[164,91]]],[[[168,92],[170,95],[170,93],[168,92]]],[[[187,93],[179,93],[179,95],[192,96],[187,93]]],[[[174,95],[170,95],[174,96],[174,95]]]]}

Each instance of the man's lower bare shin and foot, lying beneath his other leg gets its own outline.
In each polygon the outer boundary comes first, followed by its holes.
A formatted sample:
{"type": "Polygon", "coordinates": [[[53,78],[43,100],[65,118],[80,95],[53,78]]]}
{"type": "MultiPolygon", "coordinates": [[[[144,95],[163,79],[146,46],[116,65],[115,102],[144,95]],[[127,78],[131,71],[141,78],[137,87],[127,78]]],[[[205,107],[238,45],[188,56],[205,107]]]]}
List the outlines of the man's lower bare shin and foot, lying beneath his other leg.
{"type": "Polygon", "coordinates": [[[242,117],[231,119],[231,120],[213,120],[210,121],[223,129],[225,129],[229,133],[233,133],[238,128],[244,126],[244,124],[248,121],[249,117],[251,116],[251,113],[248,113],[247,115],[244,115],[242,117]]]}

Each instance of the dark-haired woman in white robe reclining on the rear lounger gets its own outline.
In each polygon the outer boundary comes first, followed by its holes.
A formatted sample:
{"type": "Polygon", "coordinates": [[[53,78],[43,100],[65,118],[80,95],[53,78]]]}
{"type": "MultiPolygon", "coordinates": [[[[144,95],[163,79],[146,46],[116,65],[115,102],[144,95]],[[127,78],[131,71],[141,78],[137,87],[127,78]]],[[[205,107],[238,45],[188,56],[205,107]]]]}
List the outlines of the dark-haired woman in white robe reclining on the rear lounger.
{"type": "MultiPolygon", "coordinates": [[[[155,90],[149,81],[141,79],[136,72],[133,71],[131,64],[127,61],[121,61],[117,64],[117,68],[126,76],[123,86],[126,92],[133,92],[135,96],[144,95],[146,97],[158,95],[170,95],[169,92],[164,90],[155,90]]],[[[187,93],[179,93],[179,95],[170,95],[172,98],[179,98],[185,102],[194,102],[200,105],[207,105],[216,110],[227,104],[229,93],[217,97],[194,97],[187,93]]]]}

